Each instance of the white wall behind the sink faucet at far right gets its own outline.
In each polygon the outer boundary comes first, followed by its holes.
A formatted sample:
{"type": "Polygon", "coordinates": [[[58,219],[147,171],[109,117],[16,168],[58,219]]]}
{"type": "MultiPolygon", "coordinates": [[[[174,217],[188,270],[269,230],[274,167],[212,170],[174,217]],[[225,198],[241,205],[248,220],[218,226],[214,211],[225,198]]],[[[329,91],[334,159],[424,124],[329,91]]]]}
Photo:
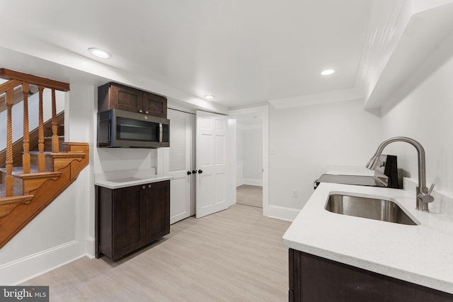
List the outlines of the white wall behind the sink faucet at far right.
{"type": "MultiPolygon", "coordinates": [[[[453,59],[450,58],[396,105],[386,104],[382,108],[383,138],[405,136],[419,141],[426,153],[428,186],[435,182],[435,190],[449,195],[453,195],[452,79],[453,59]]],[[[396,154],[398,168],[417,181],[417,152],[413,146],[394,143],[385,151],[396,154]]]]}

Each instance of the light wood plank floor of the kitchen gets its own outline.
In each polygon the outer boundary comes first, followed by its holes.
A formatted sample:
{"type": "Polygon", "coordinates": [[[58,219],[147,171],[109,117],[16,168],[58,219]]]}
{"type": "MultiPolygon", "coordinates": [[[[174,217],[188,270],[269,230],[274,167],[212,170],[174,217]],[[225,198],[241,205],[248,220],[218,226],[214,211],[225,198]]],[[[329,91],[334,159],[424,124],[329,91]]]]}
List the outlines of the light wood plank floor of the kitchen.
{"type": "Polygon", "coordinates": [[[49,285],[50,301],[287,301],[290,222],[261,213],[190,217],[120,262],[83,257],[23,285],[49,285]]]}

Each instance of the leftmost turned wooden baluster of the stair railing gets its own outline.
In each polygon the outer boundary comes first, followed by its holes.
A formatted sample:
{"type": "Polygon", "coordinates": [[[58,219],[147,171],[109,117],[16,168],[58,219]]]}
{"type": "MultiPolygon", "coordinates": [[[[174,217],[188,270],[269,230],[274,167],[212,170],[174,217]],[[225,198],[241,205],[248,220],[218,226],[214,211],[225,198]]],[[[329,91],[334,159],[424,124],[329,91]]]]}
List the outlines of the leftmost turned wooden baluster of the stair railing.
{"type": "Polygon", "coordinates": [[[6,197],[13,196],[13,122],[11,111],[14,104],[14,90],[13,88],[6,91],[6,197]]]}

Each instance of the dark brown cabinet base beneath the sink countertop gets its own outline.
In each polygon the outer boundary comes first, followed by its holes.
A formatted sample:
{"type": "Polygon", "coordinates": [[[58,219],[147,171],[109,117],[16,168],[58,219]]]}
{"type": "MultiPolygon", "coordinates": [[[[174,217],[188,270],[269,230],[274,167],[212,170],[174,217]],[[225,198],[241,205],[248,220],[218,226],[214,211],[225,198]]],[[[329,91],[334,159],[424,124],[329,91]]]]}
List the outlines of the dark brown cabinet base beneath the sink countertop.
{"type": "Polygon", "coordinates": [[[289,301],[452,302],[453,295],[289,249],[289,301]]]}

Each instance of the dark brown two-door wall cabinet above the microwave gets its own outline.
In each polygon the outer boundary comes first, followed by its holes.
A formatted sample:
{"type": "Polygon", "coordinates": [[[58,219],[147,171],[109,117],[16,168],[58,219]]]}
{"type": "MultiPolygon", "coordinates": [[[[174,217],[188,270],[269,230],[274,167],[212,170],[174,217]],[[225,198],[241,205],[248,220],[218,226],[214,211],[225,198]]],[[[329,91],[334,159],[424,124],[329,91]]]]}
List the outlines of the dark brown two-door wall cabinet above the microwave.
{"type": "Polygon", "coordinates": [[[167,99],[161,95],[110,82],[98,87],[98,112],[109,109],[166,118],[167,99]]]}

